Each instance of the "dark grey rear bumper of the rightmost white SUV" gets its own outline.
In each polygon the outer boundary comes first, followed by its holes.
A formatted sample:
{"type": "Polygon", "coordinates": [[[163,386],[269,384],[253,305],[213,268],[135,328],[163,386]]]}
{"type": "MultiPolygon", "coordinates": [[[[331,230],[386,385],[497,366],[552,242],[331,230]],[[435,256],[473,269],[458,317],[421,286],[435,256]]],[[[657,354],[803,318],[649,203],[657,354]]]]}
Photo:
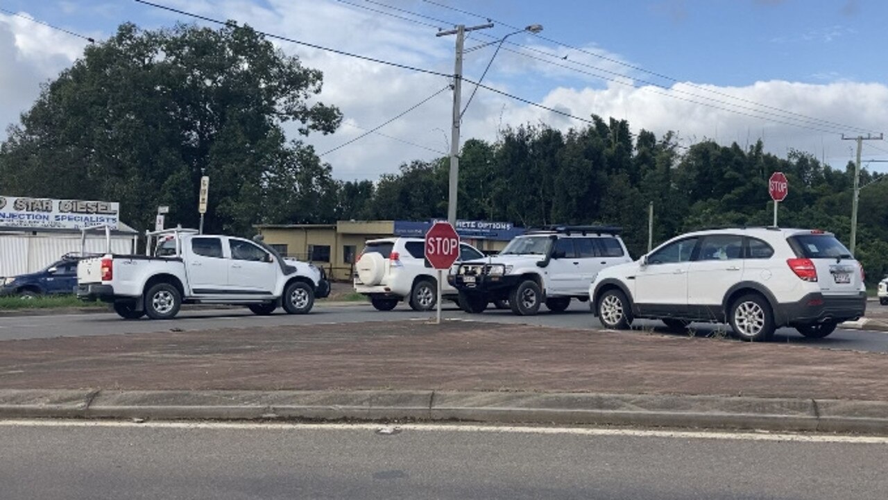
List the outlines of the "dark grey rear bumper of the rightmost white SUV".
{"type": "Polygon", "coordinates": [[[826,321],[853,321],[867,312],[867,293],[851,296],[825,296],[809,293],[798,302],[778,304],[774,315],[779,324],[811,324],[826,321]]]}

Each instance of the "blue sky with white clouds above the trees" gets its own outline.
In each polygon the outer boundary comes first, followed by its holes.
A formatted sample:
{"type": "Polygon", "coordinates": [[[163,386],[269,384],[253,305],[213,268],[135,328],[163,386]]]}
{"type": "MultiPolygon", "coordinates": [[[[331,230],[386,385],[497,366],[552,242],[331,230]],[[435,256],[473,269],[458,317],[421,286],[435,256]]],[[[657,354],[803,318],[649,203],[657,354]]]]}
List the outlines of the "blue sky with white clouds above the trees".
{"type": "MultiPolygon", "coordinates": [[[[442,74],[453,73],[455,40],[435,36],[439,28],[489,19],[494,28],[467,37],[464,75],[477,81],[496,41],[512,34],[483,80],[503,93],[477,91],[463,140],[496,140],[520,123],[567,130],[584,123],[563,114],[595,114],[626,119],[635,131],[677,131],[684,145],[714,139],[745,147],[761,138],[776,155],[795,148],[843,167],[854,146],[843,133],[888,131],[882,0],[153,1],[442,74]],[[543,32],[514,33],[531,24],[543,32]]],[[[124,21],[208,24],[134,0],[0,0],[0,125],[16,123],[40,83],[81,56],[83,37],[100,42],[124,21]]],[[[338,179],[377,179],[401,163],[447,155],[446,77],[275,43],[324,72],[320,99],[345,115],[335,134],[309,139],[319,153],[428,99],[380,133],[324,155],[338,179]]],[[[464,83],[464,104],[472,90],[464,83]]],[[[864,141],[863,160],[888,160],[888,141],[864,141]]],[[[888,171],[888,163],[869,168],[888,171]]]]}

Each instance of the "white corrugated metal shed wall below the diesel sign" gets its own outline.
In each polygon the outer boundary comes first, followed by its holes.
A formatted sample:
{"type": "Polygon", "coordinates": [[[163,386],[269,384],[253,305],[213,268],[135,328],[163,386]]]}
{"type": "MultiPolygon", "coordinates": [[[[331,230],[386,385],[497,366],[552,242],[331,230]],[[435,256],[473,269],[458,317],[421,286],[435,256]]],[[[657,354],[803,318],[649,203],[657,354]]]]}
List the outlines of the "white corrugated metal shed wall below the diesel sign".
{"type": "MultiPolygon", "coordinates": [[[[123,226],[111,234],[111,251],[133,253],[136,231],[123,226]]],[[[34,273],[69,252],[81,250],[80,233],[75,231],[22,231],[0,228],[0,276],[34,273]]],[[[104,234],[91,234],[86,251],[104,252],[104,234]]]]}

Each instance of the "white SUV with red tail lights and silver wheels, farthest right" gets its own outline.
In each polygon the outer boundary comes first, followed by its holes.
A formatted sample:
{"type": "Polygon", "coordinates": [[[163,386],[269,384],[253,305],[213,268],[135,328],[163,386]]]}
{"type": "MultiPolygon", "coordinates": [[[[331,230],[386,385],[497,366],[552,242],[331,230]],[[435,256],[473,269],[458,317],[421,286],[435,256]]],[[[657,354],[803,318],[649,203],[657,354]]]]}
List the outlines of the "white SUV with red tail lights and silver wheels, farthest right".
{"type": "Polygon", "coordinates": [[[590,294],[592,311],[612,329],[651,318],[670,329],[727,322],[746,340],[765,340],[782,326],[821,338],[866,311],[863,278],[833,234],[749,227],[682,234],[602,271],[590,294]]]}

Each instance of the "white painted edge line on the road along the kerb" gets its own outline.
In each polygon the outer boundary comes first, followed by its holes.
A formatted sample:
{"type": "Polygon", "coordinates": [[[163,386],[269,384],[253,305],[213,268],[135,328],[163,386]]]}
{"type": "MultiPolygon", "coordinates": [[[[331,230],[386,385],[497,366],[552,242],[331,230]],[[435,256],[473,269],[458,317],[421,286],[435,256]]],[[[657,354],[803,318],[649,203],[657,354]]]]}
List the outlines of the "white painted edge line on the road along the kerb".
{"type": "MultiPolygon", "coordinates": [[[[292,431],[373,431],[384,424],[300,424],[286,422],[145,422],[134,423],[115,420],[0,420],[0,427],[147,427],[157,429],[238,429],[238,430],[292,430],[292,431]]],[[[523,433],[560,434],[579,436],[626,436],[637,438],[675,438],[701,440],[751,440],[789,441],[814,443],[888,444],[888,437],[853,436],[839,434],[802,434],[768,432],[705,432],[705,431],[657,431],[643,429],[610,429],[588,427],[535,427],[521,425],[454,425],[454,424],[404,424],[402,431],[443,433],[523,433]]]]}

